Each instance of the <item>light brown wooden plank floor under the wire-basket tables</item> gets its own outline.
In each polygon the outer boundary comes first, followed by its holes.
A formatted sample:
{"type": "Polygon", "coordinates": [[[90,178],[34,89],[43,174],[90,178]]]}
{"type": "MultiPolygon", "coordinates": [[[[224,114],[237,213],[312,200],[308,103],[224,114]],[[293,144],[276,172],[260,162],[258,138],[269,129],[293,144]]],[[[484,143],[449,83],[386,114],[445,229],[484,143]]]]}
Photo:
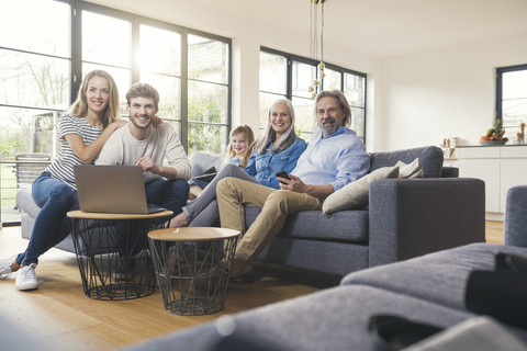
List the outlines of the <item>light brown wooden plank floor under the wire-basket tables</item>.
{"type": "MultiPolygon", "coordinates": [[[[503,223],[487,222],[486,237],[489,242],[503,244],[503,223]]],[[[20,227],[0,230],[0,258],[20,252],[26,245],[20,238],[20,227]]],[[[313,276],[267,265],[257,265],[256,272],[262,276],[255,283],[229,285],[222,312],[183,317],[164,310],[157,290],[152,296],[134,301],[86,297],[75,256],[52,249],[41,258],[37,291],[16,291],[13,276],[0,280],[0,314],[14,325],[29,328],[55,350],[112,350],[338,284],[334,276],[313,276]]]]}

